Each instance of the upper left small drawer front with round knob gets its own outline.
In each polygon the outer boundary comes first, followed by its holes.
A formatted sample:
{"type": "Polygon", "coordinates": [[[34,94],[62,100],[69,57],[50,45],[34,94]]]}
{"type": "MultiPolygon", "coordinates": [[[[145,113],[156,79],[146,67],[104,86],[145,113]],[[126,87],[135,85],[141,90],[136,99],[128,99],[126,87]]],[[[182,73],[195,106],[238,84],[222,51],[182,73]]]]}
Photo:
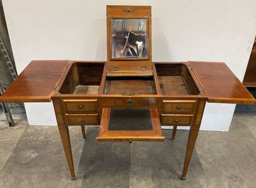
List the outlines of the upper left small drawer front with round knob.
{"type": "Polygon", "coordinates": [[[66,113],[97,113],[97,100],[64,100],[66,113]]]}

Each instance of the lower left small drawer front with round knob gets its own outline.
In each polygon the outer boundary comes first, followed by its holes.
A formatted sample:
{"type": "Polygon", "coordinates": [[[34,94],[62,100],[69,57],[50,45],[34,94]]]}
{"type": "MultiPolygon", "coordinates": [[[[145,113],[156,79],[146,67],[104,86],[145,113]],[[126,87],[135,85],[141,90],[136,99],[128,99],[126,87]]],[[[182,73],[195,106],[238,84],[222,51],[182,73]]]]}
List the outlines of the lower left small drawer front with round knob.
{"type": "Polygon", "coordinates": [[[68,125],[99,125],[98,114],[66,115],[68,125]]]}

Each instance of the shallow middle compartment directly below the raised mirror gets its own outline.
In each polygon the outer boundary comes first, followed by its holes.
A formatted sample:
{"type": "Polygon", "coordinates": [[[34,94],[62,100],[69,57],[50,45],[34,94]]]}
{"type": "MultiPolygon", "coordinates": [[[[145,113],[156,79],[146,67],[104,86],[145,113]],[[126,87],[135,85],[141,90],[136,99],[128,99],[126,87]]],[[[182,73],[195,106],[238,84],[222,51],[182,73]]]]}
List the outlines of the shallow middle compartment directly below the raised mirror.
{"type": "Polygon", "coordinates": [[[107,77],[104,94],[154,95],[153,77],[107,77]]]}

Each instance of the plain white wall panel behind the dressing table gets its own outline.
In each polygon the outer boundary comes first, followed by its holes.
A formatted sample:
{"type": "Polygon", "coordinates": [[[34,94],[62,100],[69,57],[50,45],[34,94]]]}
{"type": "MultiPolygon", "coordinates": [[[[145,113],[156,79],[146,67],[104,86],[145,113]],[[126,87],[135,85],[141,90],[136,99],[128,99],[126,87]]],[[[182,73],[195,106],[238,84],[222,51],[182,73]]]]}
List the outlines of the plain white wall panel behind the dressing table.
{"type": "MultiPolygon", "coordinates": [[[[244,77],[255,0],[2,0],[17,71],[34,59],[106,60],[106,4],[152,6],[152,59],[226,62],[244,77]]],[[[235,105],[207,104],[202,129],[227,131],[235,105]]],[[[27,103],[30,125],[56,125],[52,103],[27,103]]]]}

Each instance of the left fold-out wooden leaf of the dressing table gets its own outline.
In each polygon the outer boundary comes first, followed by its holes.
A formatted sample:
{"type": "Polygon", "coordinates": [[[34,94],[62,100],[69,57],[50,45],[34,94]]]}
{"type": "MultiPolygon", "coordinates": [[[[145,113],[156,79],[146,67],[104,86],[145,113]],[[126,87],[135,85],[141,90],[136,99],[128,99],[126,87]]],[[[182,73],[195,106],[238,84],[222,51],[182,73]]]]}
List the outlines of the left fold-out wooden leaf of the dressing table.
{"type": "Polygon", "coordinates": [[[51,101],[69,60],[33,60],[0,98],[3,102],[51,101]]]}

